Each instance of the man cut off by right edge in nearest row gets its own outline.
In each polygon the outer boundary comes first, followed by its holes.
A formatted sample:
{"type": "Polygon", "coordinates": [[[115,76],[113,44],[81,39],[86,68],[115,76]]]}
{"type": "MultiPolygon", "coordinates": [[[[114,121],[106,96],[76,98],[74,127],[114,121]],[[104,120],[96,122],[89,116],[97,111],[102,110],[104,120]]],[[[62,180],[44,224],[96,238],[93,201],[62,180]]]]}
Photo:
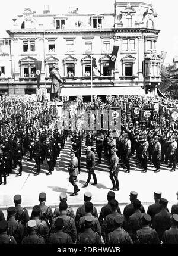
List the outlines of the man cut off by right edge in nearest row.
{"type": "Polygon", "coordinates": [[[161,241],[163,244],[176,244],[178,243],[178,215],[171,216],[171,227],[169,230],[164,231],[161,241]]]}

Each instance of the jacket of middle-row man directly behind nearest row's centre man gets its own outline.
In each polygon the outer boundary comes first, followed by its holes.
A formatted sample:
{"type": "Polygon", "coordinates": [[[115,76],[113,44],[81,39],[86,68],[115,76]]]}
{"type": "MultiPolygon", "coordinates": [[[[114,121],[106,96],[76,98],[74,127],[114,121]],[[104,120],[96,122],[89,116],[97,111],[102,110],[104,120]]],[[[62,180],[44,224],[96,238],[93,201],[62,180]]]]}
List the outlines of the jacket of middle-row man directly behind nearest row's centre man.
{"type": "MultiPolygon", "coordinates": [[[[97,232],[101,236],[101,226],[100,226],[100,223],[98,221],[98,218],[93,216],[91,213],[86,213],[85,216],[91,216],[93,218],[91,229],[94,232],[97,232]]],[[[78,223],[78,226],[77,226],[77,232],[78,233],[82,233],[85,230],[85,216],[82,216],[79,220],[79,223],[78,223]]]]}

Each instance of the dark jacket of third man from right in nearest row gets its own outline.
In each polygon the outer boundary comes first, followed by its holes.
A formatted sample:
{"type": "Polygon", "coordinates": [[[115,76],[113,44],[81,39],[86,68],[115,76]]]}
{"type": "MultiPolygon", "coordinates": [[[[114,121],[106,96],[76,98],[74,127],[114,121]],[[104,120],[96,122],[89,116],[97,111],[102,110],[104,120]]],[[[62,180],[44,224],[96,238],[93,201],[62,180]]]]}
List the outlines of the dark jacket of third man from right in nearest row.
{"type": "Polygon", "coordinates": [[[121,227],[115,229],[113,232],[110,232],[106,238],[106,243],[110,245],[119,245],[119,244],[132,244],[133,241],[128,232],[122,230],[121,227]]]}

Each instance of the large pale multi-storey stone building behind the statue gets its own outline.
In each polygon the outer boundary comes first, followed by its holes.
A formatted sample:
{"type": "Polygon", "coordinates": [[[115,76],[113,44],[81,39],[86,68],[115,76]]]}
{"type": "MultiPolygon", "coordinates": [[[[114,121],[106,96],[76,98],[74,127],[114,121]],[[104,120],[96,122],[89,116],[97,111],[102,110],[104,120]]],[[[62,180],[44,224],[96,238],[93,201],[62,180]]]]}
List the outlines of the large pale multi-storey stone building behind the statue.
{"type": "Polygon", "coordinates": [[[34,62],[41,60],[40,88],[47,93],[52,64],[58,63],[67,80],[62,95],[155,95],[161,82],[156,18],[143,2],[116,1],[107,14],[80,14],[78,8],[50,14],[47,5],[36,14],[26,8],[1,40],[0,92],[36,93],[34,62]],[[115,70],[109,70],[114,45],[119,51],[115,70]],[[92,81],[91,57],[102,74],[93,74],[92,81]]]}

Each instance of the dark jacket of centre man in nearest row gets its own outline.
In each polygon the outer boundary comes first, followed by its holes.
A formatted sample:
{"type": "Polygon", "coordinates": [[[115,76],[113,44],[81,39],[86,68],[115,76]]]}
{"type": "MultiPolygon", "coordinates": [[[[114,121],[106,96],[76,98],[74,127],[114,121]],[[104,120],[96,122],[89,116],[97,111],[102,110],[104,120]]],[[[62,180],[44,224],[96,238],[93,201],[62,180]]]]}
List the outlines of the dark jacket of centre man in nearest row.
{"type": "Polygon", "coordinates": [[[92,229],[85,229],[83,233],[78,235],[77,244],[82,245],[101,245],[101,238],[97,232],[92,229]]]}

